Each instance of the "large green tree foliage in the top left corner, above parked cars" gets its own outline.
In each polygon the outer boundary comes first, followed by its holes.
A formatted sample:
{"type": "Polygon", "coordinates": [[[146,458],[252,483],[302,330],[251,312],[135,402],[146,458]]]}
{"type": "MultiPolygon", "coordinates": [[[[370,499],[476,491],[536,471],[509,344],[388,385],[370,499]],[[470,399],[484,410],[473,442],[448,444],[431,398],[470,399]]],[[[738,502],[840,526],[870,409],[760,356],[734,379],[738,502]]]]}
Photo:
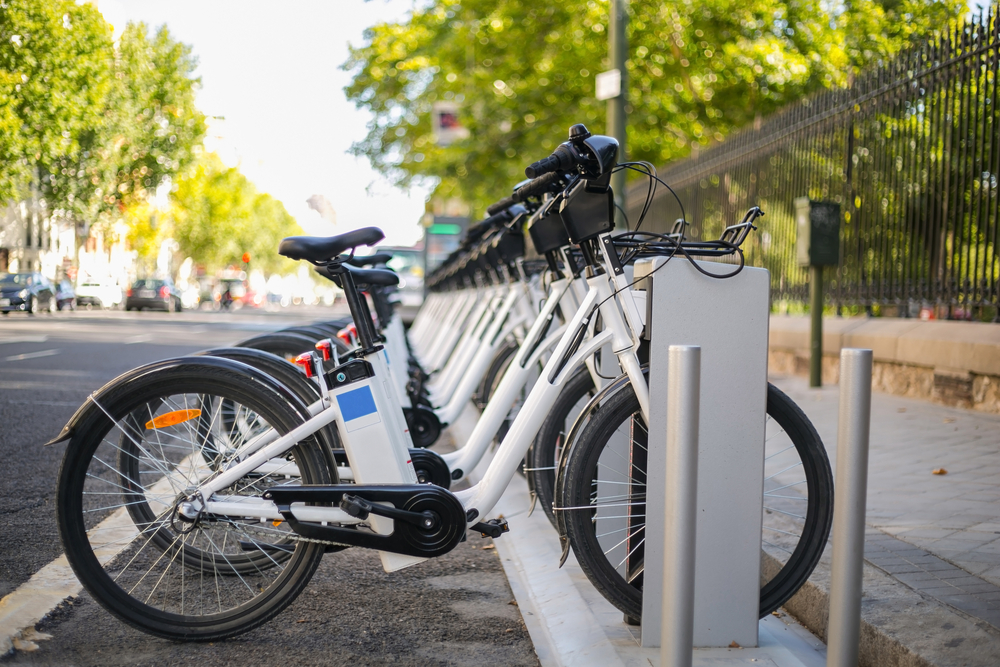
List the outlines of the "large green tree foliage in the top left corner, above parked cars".
{"type": "Polygon", "coordinates": [[[0,201],[34,181],[50,210],[122,212],[193,159],[205,133],[190,49],[72,0],[0,3],[0,201]]]}

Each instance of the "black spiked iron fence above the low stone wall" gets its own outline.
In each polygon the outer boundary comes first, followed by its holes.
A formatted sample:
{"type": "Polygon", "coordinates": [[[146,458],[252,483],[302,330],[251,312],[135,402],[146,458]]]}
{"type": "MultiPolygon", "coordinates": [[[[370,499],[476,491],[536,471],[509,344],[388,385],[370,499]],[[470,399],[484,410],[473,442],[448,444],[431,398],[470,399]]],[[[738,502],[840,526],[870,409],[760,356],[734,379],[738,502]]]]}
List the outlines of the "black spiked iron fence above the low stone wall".
{"type": "MultiPolygon", "coordinates": [[[[899,314],[995,319],[1000,305],[1000,22],[994,7],[859,76],[791,105],[660,177],[684,202],[690,236],[715,238],[752,205],[767,216],[748,263],[771,271],[772,300],[807,301],[793,200],[841,210],[827,303],[899,314]],[[887,306],[889,308],[887,308],[887,306]]],[[[635,220],[646,185],[629,191],[635,220]]],[[[679,210],[657,191],[643,229],[679,210]]]]}

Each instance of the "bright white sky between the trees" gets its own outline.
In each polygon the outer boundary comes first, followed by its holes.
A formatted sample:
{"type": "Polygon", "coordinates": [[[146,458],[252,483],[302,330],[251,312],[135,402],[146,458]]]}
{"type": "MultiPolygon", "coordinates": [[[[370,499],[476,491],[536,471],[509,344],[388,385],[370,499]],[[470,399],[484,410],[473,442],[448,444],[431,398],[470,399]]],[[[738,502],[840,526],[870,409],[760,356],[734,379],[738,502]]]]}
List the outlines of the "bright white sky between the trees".
{"type": "Polygon", "coordinates": [[[166,25],[191,46],[198,107],[211,117],[205,145],[263,192],[280,199],[307,234],[373,225],[386,243],[411,245],[427,192],[404,192],[347,153],[370,115],[347,101],[340,69],[365,28],[404,19],[411,0],[99,0],[121,32],[129,21],[166,25]],[[322,195],[324,220],[306,200],[322,195]]]}

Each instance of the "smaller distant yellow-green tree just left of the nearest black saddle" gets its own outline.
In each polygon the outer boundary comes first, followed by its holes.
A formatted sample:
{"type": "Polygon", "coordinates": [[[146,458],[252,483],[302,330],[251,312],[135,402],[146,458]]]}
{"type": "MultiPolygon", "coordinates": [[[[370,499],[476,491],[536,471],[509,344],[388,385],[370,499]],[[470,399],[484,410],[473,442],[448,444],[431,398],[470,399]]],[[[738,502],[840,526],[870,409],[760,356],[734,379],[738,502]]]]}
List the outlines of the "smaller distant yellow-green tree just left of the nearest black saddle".
{"type": "Polygon", "coordinates": [[[255,268],[294,270],[295,263],[276,251],[282,238],[302,233],[295,219],[215,154],[203,156],[177,180],[171,200],[173,238],[209,272],[238,266],[244,252],[255,268]]]}

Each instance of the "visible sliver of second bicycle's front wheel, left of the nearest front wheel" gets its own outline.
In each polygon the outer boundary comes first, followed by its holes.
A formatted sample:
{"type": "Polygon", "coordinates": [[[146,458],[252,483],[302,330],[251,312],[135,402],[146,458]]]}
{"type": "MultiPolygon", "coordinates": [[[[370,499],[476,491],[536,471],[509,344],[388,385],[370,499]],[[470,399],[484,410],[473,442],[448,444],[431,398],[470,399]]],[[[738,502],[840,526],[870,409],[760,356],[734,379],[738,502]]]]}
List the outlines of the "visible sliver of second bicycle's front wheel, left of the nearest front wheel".
{"type": "Polygon", "coordinates": [[[596,392],[590,371],[581,368],[574,373],[559,393],[528,450],[527,474],[535,493],[535,504],[545,510],[545,516],[556,528],[556,516],[552,511],[556,495],[556,462],[561,458],[562,446],[573,420],[596,392]]]}

